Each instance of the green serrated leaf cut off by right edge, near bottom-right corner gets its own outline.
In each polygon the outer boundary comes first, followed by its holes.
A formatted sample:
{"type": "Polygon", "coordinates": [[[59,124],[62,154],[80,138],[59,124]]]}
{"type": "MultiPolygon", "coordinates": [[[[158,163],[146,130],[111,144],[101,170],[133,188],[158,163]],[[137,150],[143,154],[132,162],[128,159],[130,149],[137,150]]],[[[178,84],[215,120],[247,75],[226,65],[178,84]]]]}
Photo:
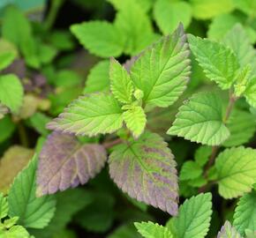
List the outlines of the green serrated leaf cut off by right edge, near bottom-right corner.
{"type": "MultiPolygon", "coordinates": [[[[255,157],[254,157],[255,160],[255,157]]],[[[234,214],[234,226],[241,234],[245,234],[246,229],[256,230],[256,191],[252,190],[239,199],[234,214]]]]}

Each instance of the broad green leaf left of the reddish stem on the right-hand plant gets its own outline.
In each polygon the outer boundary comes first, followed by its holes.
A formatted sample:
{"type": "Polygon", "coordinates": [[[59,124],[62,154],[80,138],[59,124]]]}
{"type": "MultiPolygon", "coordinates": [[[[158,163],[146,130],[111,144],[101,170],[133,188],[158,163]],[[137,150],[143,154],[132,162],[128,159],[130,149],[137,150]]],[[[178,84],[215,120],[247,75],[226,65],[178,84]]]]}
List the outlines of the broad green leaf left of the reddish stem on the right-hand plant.
{"type": "Polygon", "coordinates": [[[222,122],[222,99],[217,93],[196,93],[179,108],[167,131],[203,145],[221,145],[230,131],[222,122]]]}

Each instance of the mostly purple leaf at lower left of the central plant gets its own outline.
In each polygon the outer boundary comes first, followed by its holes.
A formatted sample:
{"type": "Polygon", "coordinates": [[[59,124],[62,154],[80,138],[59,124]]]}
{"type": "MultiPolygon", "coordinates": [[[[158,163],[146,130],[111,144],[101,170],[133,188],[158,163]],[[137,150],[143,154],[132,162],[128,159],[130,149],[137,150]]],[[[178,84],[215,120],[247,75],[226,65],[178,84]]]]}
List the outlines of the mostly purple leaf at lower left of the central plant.
{"type": "Polygon", "coordinates": [[[41,150],[37,194],[52,194],[84,184],[101,171],[106,160],[102,145],[80,145],[71,135],[53,132],[41,150]]]}

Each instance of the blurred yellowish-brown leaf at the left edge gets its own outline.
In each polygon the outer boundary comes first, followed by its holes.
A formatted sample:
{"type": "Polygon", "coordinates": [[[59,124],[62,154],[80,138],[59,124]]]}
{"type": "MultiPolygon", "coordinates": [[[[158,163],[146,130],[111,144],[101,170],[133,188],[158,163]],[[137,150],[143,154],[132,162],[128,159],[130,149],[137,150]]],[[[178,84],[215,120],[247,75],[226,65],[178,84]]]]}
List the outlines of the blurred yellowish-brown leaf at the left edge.
{"type": "Polygon", "coordinates": [[[1,158],[0,191],[6,193],[13,179],[32,159],[34,151],[19,145],[12,145],[1,158]]]}

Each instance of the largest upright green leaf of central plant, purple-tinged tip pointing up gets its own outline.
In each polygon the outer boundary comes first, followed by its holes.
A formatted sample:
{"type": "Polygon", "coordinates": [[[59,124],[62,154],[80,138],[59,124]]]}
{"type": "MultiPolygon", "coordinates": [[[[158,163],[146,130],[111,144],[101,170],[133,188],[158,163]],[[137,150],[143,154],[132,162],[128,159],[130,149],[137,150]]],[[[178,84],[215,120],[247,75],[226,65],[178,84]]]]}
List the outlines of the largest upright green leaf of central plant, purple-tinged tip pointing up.
{"type": "Polygon", "coordinates": [[[131,69],[135,86],[144,93],[144,103],[163,108],[173,104],[184,92],[190,72],[182,25],[148,48],[131,69]]]}

